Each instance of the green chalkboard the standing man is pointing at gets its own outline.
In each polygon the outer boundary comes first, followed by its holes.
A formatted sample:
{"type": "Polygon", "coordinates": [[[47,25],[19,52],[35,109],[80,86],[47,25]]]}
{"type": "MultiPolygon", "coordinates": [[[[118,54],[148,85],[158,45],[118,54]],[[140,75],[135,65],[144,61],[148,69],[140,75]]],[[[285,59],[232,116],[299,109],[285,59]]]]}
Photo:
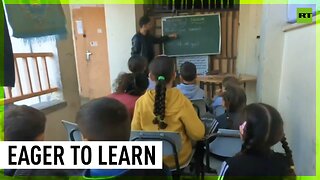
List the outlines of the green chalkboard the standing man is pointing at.
{"type": "Polygon", "coordinates": [[[178,38],[164,44],[167,56],[220,54],[220,14],[162,18],[162,34],[171,33],[178,38]]]}

